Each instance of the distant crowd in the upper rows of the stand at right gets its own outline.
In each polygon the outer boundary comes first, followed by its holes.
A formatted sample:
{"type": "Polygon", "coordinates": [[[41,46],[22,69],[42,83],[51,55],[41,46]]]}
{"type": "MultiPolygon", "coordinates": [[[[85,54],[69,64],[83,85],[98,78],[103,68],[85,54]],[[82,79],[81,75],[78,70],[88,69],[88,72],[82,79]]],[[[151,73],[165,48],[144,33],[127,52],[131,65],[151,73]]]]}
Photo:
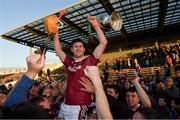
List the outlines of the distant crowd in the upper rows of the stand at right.
{"type": "MultiPolygon", "coordinates": [[[[142,53],[132,54],[127,59],[114,61],[115,69],[135,68],[137,61],[141,67],[156,67],[167,64],[169,67],[179,64],[180,44],[160,44],[159,47],[143,49],[142,53]]],[[[106,63],[107,64],[107,63],[106,63]]]]}

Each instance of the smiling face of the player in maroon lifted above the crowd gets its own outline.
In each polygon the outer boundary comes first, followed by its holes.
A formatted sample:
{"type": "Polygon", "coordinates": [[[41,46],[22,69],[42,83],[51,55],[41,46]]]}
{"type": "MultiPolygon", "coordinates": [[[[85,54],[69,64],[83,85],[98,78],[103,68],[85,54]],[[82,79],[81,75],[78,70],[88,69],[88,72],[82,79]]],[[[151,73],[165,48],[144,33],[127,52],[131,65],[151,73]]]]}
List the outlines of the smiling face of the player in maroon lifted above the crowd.
{"type": "Polygon", "coordinates": [[[85,48],[84,48],[83,43],[75,42],[71,48],[71,51],[74,53],[75,57],[84,56],[85,48]]]}

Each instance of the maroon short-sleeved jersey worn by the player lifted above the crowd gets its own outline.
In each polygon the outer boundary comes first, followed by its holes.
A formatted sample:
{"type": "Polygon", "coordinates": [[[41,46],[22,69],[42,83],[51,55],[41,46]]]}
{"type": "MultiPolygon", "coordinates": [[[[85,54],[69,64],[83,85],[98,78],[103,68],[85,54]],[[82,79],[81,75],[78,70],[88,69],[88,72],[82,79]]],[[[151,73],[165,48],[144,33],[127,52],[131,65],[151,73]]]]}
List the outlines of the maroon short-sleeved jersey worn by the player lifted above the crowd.
{"type": "Polygon", "coordinates": [[[65,104],[67,105],[89,105],[91,102],[90,93],[81,91],[83,87],[79,81],[85,76],[84,69],[86,66],[96,65],[98,59],[94,55],[90,55],[82,61],[75,62],[69,56],[66,56],[64,65],[67,69],[67,86],[65,91],[65,104]]]}

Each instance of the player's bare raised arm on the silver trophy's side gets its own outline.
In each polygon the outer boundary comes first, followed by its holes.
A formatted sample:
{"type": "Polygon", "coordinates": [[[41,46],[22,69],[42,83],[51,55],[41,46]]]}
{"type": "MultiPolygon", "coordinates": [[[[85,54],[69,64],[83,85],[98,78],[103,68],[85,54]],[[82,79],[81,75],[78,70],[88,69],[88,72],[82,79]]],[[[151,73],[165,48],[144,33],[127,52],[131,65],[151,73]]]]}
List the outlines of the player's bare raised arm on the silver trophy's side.
{"type": "Polygon", "coordinates": [[[104,33],[101,30],[100,25],[95,16],[88,16],[88,21],[91,23],[98,36],[99,45],[95,48],[93,54],[96,59],[99,59],[106,48],[107,39],[104,36],[104,33]]]}

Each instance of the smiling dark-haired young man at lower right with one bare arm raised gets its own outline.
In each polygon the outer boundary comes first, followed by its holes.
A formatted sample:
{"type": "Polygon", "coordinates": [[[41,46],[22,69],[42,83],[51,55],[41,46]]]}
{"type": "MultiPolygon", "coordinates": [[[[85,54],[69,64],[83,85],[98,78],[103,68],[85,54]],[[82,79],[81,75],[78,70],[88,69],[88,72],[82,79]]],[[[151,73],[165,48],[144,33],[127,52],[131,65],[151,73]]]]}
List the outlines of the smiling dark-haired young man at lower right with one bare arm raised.
{"type": "Polygon", "coordinates": [[[133,114],[138,111],[139,108],[151,108],[151,101],[148,95],[145,93],[140,83],[138,82],[139,77],[137,72],[134,70],[134,77],[131,79],[131,83],[135,87],[131,87],[126,91],[126,103],[127,107],[123,110],[120,118],[129,119],[132,118],[133,114]],[[142,103],[142,105],[140,104],[142,103]]]}

